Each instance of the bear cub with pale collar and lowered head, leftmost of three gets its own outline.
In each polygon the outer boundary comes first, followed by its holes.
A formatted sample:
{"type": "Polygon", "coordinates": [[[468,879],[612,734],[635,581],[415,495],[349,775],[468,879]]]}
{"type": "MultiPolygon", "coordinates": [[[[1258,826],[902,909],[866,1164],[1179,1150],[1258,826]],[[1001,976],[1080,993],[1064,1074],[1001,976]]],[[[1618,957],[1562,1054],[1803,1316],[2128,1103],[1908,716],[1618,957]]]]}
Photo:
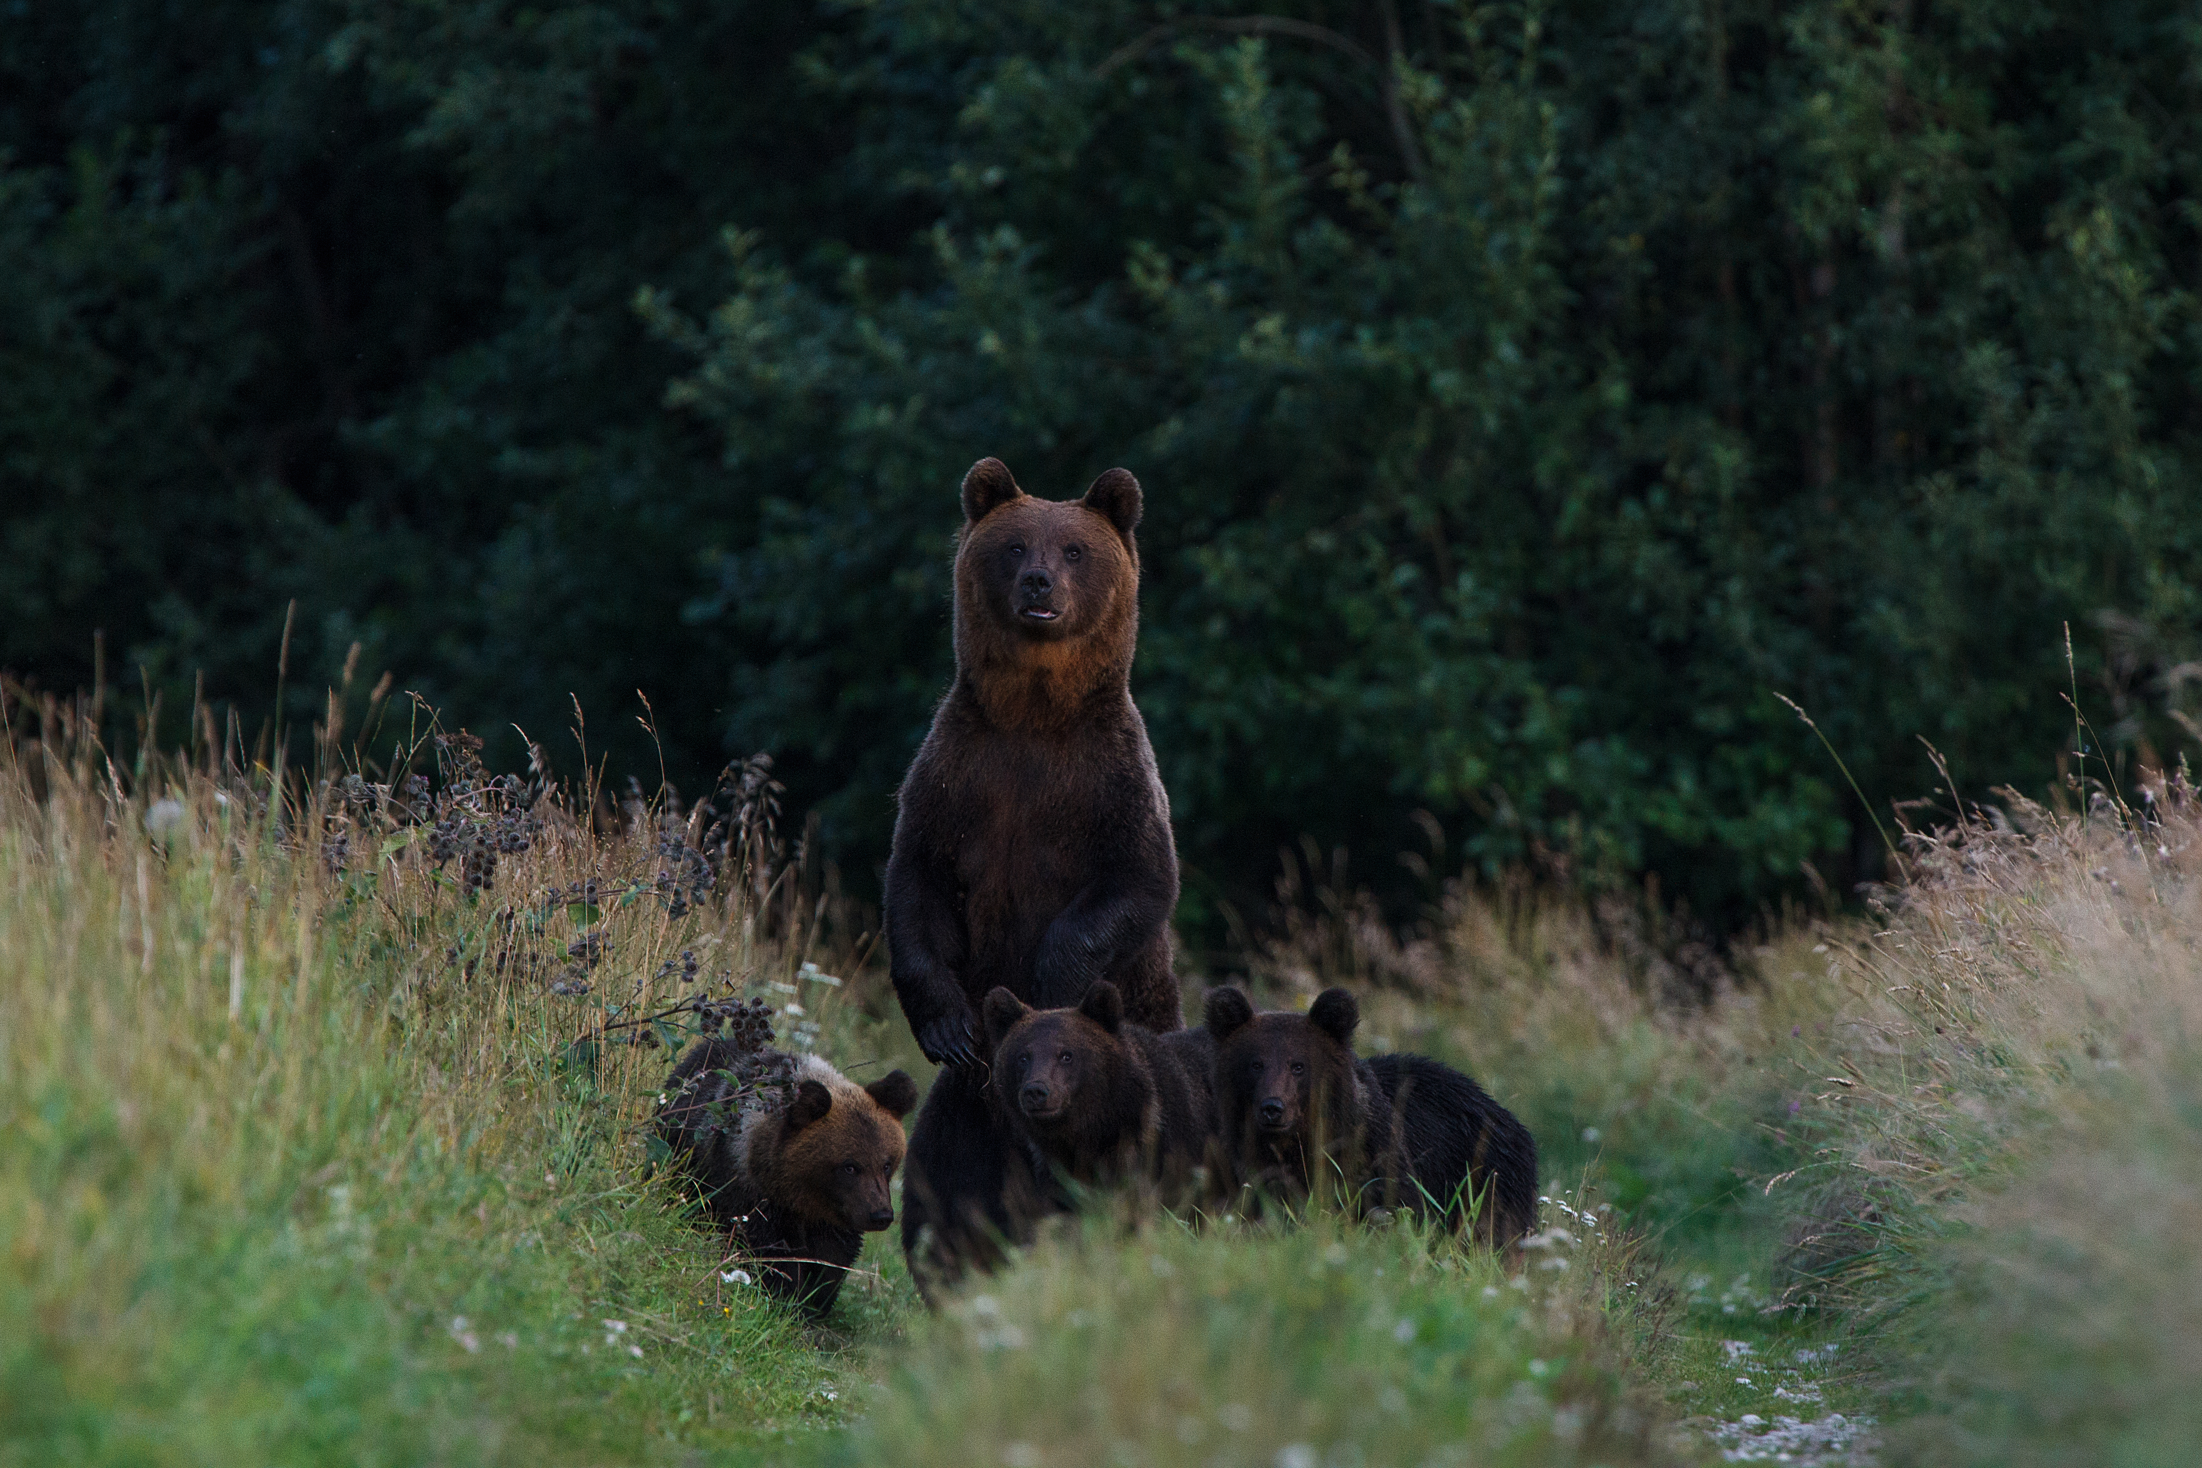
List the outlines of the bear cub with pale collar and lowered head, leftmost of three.
{"type": "Polygon", "coordinates": [[[894,1224],[887,1186],[916,1083],[896,1070],[857,1085],[815,1054],[705,1039],[665,1094],[658,1136],[713,1221],[755,1255],[766,1290],[824,1316],[863,1235],[894,1224]]]}

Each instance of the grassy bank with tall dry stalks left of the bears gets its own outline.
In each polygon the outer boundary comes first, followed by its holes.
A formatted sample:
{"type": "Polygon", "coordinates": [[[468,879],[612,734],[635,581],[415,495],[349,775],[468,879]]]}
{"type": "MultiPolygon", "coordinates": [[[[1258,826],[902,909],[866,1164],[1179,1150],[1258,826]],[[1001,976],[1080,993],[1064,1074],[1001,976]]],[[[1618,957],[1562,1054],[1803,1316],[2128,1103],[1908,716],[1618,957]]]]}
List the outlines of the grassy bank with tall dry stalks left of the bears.
{"type": "Polygon", "coordinates": [[[709,869],[696,812],[440,757],[126,781],[66,711],[0,751],[0,1461],[652,1461],[846,1413],[907,1283],[806,1332],[641,1131],[696,993],[901,1059],[863,935],[755,821],[709,869]]]}

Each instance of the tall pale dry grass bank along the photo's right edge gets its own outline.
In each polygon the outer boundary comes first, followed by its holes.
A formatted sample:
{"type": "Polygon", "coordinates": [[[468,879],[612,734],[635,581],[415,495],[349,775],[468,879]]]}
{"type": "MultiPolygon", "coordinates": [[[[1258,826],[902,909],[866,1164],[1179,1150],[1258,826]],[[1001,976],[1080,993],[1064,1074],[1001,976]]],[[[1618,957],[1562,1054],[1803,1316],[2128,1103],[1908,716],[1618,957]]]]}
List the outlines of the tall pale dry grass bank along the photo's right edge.
{"type": "Polygon", "coordinates": [[[1920,1464],[2178,1464],[2202,1442],[2202,806],[1914,836],[1839,955],[1832,1270],[1920,1464]]]}

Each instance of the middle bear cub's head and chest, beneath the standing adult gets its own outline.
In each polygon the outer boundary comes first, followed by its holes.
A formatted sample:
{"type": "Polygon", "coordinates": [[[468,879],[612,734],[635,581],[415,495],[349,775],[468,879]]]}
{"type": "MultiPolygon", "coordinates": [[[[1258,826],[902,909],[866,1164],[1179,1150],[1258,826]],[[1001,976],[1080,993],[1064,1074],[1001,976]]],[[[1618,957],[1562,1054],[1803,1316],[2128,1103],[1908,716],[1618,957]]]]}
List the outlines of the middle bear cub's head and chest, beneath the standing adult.
{"type": "Polygon", "coordinates": [[[1130,1023],[1108,979],[1055,1010],[995,988],[984,1019],[993,1103],[1035,1173],[1088,1186],[1143,1180],[1167,1202],[1196,1186],[1216,1136],[1207,1030],[1130,1023]]]}

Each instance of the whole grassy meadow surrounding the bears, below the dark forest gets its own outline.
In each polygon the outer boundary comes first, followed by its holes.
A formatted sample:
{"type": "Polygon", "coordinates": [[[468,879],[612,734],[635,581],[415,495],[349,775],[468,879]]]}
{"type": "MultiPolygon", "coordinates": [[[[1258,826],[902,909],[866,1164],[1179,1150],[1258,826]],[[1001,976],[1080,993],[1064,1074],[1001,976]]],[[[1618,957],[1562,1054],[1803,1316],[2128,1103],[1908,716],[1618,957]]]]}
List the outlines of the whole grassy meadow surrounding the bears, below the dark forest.
{"type": "MultiPolygon", "coordinates": [[[[1779,1417],[1883,1461],[2202,1435],[2202,819],[2002,801],[1865,918],[1689,968],[1632,909],[1350,900],[1216,975],[1365,997],[1530,1122],[1519,1257],[1411,1221],[1097,1217],[826,1327],[650,1175],[698,990],[916,1056],[738,770],[705,810],[491,779],[0,764],[0,1464],[1689,1464],[1779,1417]],[[713,861],[700,856],[716,852],[713,861]]],[[[1702,955],[1700,955],[1702,957],[1702,955]]]]}

